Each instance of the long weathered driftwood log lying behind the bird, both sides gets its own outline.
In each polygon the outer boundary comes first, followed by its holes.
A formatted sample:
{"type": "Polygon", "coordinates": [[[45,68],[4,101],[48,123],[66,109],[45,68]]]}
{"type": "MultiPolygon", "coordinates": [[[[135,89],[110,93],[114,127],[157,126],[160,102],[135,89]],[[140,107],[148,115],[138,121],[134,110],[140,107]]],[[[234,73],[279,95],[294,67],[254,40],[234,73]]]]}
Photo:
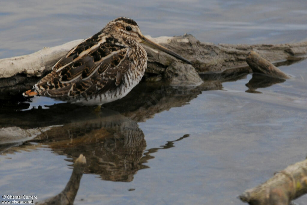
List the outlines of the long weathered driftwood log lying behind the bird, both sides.
{"type": "MultiPolygon", "coordinates": [[[[198,74],[249,73],[246,56],[254,50],[260,56],[273,63],[298,61],[307,54],[307,42],[276,45],[247,45],[247,44],[213,44],[200,42],[192,35],[185,34],[177,37],[157,37],[153,41],[174,50],[192,61],[192,66],[183,64],[177,59],[146,47],[148,65],[144,79],[146,81],[165,80],[170,85],[200,85],[202,80],[198,74]]],[[[32,88],[42,76],[49,73],[52,66],[82,40],[71,41],[64,45],[44,48],[36,53],[20,57],[0,60],[0,98],[8,99],[32,88]]]]}

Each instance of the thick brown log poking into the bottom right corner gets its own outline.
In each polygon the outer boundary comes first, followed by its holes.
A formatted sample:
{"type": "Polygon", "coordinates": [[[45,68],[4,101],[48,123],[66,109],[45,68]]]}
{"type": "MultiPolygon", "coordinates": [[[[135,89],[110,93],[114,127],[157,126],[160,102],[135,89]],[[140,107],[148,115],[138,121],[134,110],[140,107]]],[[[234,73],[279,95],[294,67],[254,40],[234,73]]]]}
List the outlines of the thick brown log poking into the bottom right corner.
{"type": "Polygon", "coordinates": [[[288,205],[307,193],[307,159],[288,166],[258,187],[244,191],[239,198],[251,205],[288,205]]]}

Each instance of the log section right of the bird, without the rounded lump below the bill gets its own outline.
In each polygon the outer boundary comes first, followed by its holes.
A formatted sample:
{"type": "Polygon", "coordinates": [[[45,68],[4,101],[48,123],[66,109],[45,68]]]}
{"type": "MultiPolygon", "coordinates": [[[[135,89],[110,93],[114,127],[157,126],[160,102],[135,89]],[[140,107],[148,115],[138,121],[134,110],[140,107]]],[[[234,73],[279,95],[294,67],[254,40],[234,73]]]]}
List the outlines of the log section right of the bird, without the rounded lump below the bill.
{"type": "MultiPolygon", "coordinates": [[[[247,66],[246,56],[256,51],[270,62],[304,59],[307,54],[307,41],[292,44],[214,44],[200,42],[194,36],[185,34],[176,37],[157,37],[153,41],[174,50],[193,63],[198,73],[220,73],[227,69],[247,66]]],[[[161,74],[177,59],[166,53],[144,46],[148,55],[146,73],[161,74]],[[172,60],[170,60],[172,59],[172,60]]]]}

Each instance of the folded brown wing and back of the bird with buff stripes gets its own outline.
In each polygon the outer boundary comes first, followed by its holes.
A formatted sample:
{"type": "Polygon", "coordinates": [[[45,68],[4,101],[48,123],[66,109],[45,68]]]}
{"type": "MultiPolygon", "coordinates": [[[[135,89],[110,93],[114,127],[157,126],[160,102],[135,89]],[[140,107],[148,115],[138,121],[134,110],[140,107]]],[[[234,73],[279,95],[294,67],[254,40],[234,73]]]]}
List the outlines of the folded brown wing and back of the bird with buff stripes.
{"type": "Polygon", "coordinates": [[[133,64],[128,52],[114,37],[95,34],[69,51],[36,87],[49,97],[87,98],[114,90],[133,64]]]}

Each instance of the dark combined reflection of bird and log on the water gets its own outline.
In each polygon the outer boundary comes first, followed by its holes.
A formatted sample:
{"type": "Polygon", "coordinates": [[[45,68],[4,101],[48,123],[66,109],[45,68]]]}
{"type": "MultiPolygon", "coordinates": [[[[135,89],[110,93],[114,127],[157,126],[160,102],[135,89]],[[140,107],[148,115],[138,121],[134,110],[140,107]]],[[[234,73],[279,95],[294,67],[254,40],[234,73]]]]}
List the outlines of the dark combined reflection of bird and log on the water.
{"type": "MultiPolygon", "coordinates": [[[[69,103],[21,111],[28,109],[31,102],[22,101],[21,97],[2,101],[0,152],[44,145],[73,159],[83,153],[87,158],[85,172],[98,174],[105,180],[132,181],[137,170],[147,168],[142,165],[146,162],[142,159],[146,141],[137,123],[188,104],[204,90],[222,89],[224,80],[212,79],[198,87],[141,82],[126,97],[105,104],[100,112],[69,103]]],[[[173,147],[175,141],[167,142],[163,148],[173,147]]],[[[145,157],[158,149],[148,149],[145,157]]]]}

